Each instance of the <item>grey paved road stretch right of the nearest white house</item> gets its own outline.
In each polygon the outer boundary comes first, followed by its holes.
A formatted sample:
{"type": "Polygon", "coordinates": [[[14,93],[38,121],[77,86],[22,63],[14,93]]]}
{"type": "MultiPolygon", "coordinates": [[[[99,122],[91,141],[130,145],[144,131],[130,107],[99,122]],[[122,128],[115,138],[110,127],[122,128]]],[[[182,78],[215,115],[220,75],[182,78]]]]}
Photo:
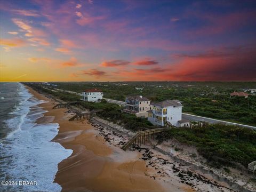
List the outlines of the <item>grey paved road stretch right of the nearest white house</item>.
{"type": "Polygon", "coordinates": [[[232,122],[222,121],[222,120],[208,118],[208,117],[190,115],[190,114],[186,114],[186,113],[182,113],[182,118],[186,118],[186,119],[191,120],[191,121],[205,121],[207,123],[225,123],[225,124],[228,124],[228,125],[238,125],[238,126],[247,127],[247,128],[256,130],[255,126],[244,125],[244,124],[239,124],[239,123],[232,123],[232,122]]]}

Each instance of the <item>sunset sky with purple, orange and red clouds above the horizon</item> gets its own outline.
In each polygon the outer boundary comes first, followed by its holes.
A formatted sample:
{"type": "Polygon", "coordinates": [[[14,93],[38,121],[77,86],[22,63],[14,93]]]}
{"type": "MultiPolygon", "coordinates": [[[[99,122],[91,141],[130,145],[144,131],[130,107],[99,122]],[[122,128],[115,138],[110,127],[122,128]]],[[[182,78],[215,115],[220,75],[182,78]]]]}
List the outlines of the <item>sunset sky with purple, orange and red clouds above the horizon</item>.
{"type": "Polygon", "coordinates": [[[0,81],[256,81],[256,1],[0,0],[0,81]]]}

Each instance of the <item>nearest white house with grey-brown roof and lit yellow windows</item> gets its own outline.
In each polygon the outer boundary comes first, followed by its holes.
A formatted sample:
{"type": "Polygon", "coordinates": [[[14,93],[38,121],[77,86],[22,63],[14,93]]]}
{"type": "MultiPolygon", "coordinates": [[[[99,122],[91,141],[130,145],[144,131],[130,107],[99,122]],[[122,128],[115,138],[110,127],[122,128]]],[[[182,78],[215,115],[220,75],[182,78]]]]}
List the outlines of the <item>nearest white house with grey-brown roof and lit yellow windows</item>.
{"type": "Polygon", "coordinates": [[[165,100],[152,104],[148,111],[148,121],[154,125],[164,126],[167,122],[174,126],[187,126],[189,121],[182,119],[182,101],[165,100]]]}

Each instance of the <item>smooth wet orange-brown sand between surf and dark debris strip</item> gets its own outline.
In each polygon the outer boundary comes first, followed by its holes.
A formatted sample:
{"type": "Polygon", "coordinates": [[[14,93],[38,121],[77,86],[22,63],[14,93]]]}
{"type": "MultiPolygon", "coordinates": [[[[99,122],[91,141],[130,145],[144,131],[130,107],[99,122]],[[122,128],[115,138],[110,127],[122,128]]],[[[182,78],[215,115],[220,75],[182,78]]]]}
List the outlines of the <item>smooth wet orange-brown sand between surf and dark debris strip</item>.
{"type": "Polygon", "coordinates": [[[54,182],[62,191],[194,191],[182,183],[150,178],[148,173],[154,170],[140,159],[140,153],[107,145],[86,120],[69,122],[74,114],[67,113],[68,109],[52,109],[56,102],[27,88],[38,99],[49,101],[40,105],[48,112],[37,123],[58,123],[59,133],[53,141],[73,150],[59,163],[55,175],[54,182]]]}

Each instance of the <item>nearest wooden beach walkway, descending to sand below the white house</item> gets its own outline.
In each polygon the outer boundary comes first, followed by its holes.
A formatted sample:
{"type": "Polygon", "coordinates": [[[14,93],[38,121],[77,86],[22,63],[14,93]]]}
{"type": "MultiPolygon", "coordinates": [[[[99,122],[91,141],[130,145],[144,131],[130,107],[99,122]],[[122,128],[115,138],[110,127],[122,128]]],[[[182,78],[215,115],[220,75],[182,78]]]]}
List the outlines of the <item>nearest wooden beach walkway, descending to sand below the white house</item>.
{"type": "Polygon", "coordinates": [[[127,141],[127,143],[122,147],[122,149],[126,150],[128,147],[131,148],[132,143],[138,143],[139,145],[141,145],[142,142],[145,144],[147,140],[149,141],[150,135],[163,132],[164,130],[165,128],[140,131],[133,135],[133,137],[129,139],[129,141],[127,141]]]}

